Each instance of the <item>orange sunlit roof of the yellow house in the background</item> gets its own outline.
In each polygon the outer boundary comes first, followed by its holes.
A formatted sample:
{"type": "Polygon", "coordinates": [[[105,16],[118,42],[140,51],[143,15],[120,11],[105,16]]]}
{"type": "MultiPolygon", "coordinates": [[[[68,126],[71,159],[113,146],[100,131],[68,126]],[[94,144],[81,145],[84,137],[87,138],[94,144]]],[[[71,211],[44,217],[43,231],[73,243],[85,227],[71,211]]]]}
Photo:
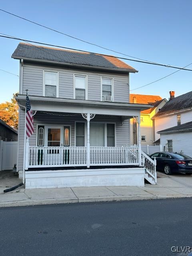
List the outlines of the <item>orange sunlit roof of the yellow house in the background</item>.
{"type": "Polygon", "coordinates": [[[141,111],[141,114],[150,114],[164,100],[158,95],[130,94],[130,103],[134,103],[134,97],[138,104],[153,105],[153,108],[143,110],[141,111]]]}

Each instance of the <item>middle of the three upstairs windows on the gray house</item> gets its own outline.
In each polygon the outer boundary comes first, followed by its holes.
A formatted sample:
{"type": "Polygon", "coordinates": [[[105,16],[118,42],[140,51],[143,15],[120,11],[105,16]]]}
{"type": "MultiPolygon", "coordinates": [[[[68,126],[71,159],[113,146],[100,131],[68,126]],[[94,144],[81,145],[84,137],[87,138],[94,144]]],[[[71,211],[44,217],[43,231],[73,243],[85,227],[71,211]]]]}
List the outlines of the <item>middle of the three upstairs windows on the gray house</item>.
{"type": "Polygon", "coordinates": [[[74,99],[87,100],[87,76],[74,75],[74,99]]]}

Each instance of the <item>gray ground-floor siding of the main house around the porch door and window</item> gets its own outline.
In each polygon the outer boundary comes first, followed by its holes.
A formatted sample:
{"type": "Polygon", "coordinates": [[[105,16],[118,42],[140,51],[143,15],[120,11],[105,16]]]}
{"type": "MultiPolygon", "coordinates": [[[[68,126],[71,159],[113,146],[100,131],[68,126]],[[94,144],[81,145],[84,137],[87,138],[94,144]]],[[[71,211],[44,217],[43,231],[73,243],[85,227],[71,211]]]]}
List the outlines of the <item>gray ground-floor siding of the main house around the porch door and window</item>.
{"type": "MultiPolygon", "coordinates": [[[[69,113],[62,113],[69,114],[69,113]]],[[[86,122],[80,114],[76,116],[56,116],[37,112],[34,116],[34,134],[30,137],[30,146],[36,146],[37,141],[37,125],[55,125],[55,126],[71,126],[71,144],[75,146],[74,134],[75,134],[75,121],[86,122]]],[[[129,120],[124,121],[122,125],[120,116],[102,116],[96,115],[90,122],[112,122],[116,124],[116,146],[129,146],[130,145],[130,125],[129,120]]],[[[20,134],[19,134],[19,154],[18,154],[18,170],[23,169],[23,148],[24,148],[24,125],[25,125],[25,113],[24,110],[20,111],[20,134]]],[[[86,146],[86,145],[85,145],[86,146]]]]}

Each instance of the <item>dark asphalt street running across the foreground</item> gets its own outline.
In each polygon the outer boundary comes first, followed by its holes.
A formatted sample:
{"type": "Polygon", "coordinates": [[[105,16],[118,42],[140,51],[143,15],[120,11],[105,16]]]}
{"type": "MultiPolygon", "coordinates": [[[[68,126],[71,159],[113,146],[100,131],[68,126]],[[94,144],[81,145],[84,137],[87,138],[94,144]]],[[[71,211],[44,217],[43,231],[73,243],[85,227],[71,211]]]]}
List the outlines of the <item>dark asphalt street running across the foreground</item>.
{"type": "Polygon", "coordinates": [[[0,255],[169,256],[192,246],[191,198],[0,208],[0,255]]]}

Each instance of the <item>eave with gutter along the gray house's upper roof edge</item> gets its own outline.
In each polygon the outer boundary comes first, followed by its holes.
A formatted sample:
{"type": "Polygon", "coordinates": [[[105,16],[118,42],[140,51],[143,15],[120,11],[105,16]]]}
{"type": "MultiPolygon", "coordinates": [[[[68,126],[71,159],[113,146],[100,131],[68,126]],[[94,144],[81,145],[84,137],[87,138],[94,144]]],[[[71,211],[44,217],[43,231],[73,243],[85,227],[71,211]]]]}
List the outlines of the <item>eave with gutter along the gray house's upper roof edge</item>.
{"type": "Polygon", "coordinates": [[[14,58],[16,60],[26,60],[28,62],[40,62],[40,63],[48,63],[48,64],[56,64],[56,65],[62,65],[67,67],[76,67],[76,68],[87,68],[91,70],[104,70],[104,71],[112,71],[116,73],[136,73],[138,70],[135,69],[128,69],[128,68],[106,68],[106,67],[100,67],[100,66],[91,66],[91,65],[83,65],[83,64],[76,64],[76,63],[68,63],[68,62],[59,62],[54,60],[41,60],[36,58],[26,58],[21,56],[14,56],[12,55],[11,58],[14,58]]]}

